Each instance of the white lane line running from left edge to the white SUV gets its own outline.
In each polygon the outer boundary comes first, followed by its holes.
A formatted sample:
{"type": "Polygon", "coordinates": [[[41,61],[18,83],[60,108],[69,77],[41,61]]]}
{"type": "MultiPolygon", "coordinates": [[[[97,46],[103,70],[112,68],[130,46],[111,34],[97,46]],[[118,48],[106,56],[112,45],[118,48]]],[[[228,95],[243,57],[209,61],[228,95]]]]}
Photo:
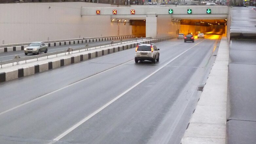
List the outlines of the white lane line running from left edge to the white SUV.
{"type": "MultiPolygon", "coordinates": [[[[32,99],[32,100],[30,100],[30,101],[27,101],[27,102],[25,102],[25,103],[23,103],[23,104],[20,104],[20,105],[18,105],[18,106],[15,106],[15,107],[13,107],[13,108],[11,108],[11,109],[8,109],[8,110],[6,110],[6,111],[3,111],[3,112],[0,113],[0,115],[5,114],[5,113],[7,113],[7,112],[9,112],[9,111],[11,111],[11,110],[14,110],[14,109],[16,109],[16,108],[19,108],[19,107],[21,107],[21,106],[24,106],[24,105],[26,105],[26,104],[29,104],[29,103],[31,103],[31,102],[33,102],[33,101],[38,100],[38,99],[42,99],[42,98],[44,98],[44,97],[46,97],[46,96],[48,96],[48,95],[51,95],[51,94],[53,94],[53,93],[56,93],[56,92],[58,92],[58,91],[60,91],[60,90],[63,90],[63,89],[65,89],[65,88],[67,88],[67,87],[70,87],[70,86],[72,86],[72,85],[74,85],[74,84],[77,84],[77,83],[79,83],[79,82],[85,81],[85,80],[87,80],[88,78],[92,78],[92,77],[97,76],[97,75],[99,75],[99,74],[101,74],[101,73],[103,73],[103,72],[109,71],[109,70],[111,70],[111,69],[113,69],[113,68],[116,68],[116,67],[118,67],[118,66],[124,65],[124,64],[126,64],[126,63],[131,62],[131,61],[134,61],[134,59],[133,59],[133,60],[130,60],[130,61],[128,61],[128,62],[125,62],[125,63],[121,63],[121,64],[119,64],[119,65],[116,65],[116,66],[114,66],[114,67],[111,67],[111,68],[109,68],[109,69],[107,69],[107,70],[105,70],[105,71],[99,72],[99,73],[97,73],[97,74],[95,74],[95,75],[89,76],[89,77],[84,78],[84,79],[82,79],[82,80],[80,80],[80,81],[77,81],[77,82],[74,82],[74,83],[72,83],[72,84],[69,84],[69,85],[67,85],[67,86],[65,86],[65,87],[63,87],[63,88],[57,89],[57,90],[55,90],[55,91],[52,91],[52,92],[50,92],[50,93],[48,93],[48,94],[45,94],[45,95],[43,95],[43,96],[41,96],[41,97],[38,97],[38,98],[36,98],[36,99],[32,99]]],[[[87,61],[87,62],[88,62],[88,61],[87,61]]]]}

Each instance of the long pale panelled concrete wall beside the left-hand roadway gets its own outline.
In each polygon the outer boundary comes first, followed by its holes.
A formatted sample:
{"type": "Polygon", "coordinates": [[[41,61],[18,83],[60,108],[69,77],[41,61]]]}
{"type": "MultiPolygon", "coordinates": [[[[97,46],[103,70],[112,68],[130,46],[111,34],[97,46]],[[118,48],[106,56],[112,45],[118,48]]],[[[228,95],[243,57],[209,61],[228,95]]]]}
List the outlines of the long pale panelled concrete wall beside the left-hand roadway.
{"type": "MultiPolygon", "coordinates": [[[[110,16],[81,16],[81,7],[111,7],[84,2],[0,4],[0,45],[118,35],[110,16]],[[50,8],[49,8],[50,7],[50,8]]],[[[121,24],[119,35],[131,35],[121,24]]]]}

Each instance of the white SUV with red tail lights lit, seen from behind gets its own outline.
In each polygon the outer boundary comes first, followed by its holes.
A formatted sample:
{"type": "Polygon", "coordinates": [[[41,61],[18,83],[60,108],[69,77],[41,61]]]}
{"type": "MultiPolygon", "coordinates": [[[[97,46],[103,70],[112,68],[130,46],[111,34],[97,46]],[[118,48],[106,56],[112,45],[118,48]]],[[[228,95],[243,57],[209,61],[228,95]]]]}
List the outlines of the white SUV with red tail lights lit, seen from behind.
{"type": "Polygon", "coordinates": [[[138,61],[155,61],[159,62],[159,49],[155,44],[139,44],[136,47],[135,63],[138,61]]]}

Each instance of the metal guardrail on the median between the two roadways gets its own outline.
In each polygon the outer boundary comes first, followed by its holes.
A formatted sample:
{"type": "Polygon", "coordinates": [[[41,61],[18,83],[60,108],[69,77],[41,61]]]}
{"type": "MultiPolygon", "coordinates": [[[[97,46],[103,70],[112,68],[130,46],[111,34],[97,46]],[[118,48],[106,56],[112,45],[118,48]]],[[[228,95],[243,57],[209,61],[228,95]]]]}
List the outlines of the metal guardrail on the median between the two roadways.
{"type": "MultiPolygon", "coordinates": [[[[104,43],[104,44],[99,44],[99,45],[90,45],[90,46],[84,46],[84,47],[80,47],[80,48],[74,48],[71,51],[79,50],[79,52],[80,52],[80,50],[82,50],[82,49],[88,50],[88,49],[93,48],[93,47],[97,48],[99,46],[101,48],[101,46],[105,46],[105,47],[106,47],[106,45],[109,45],[109,46],[112,45],[113,46],[114,44],[118,45],[119,43],[122,44],[122,43],[125,43],[125,42],[126,43],[136,42],[138,40],[146,40],[146,39],[151,39],[151,37],[135,38],[135,39],[124,40],[124,41],[116,41],[116,42],[112,41],[112,42],[109,42],[109,43],[104,43]]],[[[1,65],[1,68],[2,68],[3,64],[12,63],[12,65],[13,65],[13,63],[19,64],[19,62],[21,62],[21,61],[26,61],[26,63],[27,63],[27,60],[38,59],[38,58],[42,58],[42,57],[46,57],[46,56],[48,58],[48,56],[51,56],[51,55],[56,55],[57,56],[58,54],[61,54],[61,53],[66,54],[66,52],[69,52],[69,50],[67,49],[67,50],[62,50],[62,51],[50,52],[50,53],[45,53],[45,54],[40,54],[40,55],[35,55],[35,56],[30,56],[30,57],[25,57],[25,58],[19,58],[19,56],[17,55],[17,59],[0,62],[0,65],[1,65]]]]}

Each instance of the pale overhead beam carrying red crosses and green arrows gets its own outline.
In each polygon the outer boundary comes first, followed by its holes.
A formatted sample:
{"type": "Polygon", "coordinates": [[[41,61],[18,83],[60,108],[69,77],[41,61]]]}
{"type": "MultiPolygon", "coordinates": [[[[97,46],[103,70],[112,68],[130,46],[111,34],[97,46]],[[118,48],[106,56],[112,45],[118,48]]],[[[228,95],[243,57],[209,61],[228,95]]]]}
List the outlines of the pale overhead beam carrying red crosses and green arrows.
{"type": "MultiPolygon", "coordinates": [[[[81,15],[228,15],[228,6],[82,8],[81,15]],[[96,11],[98,10],[98,12],[96,11]],[[95,12],[96,11],[96,12],[95,12]],[[175,12],[175,13],[174,13],[175,12]]],[[[218,16],[214,16],[218,17],[218,16]]]]}

